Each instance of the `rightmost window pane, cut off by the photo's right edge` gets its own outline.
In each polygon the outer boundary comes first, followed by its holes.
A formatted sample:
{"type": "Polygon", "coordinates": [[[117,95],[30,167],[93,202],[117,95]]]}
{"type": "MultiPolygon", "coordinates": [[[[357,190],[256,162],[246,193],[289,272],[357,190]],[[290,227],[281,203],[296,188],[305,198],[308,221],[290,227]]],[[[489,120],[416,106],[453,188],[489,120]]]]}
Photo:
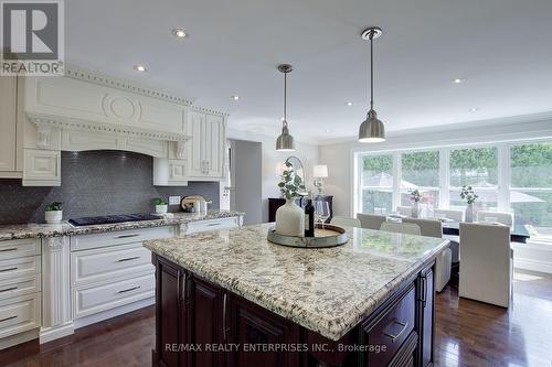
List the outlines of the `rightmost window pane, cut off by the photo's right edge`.
{"type": "Polygon", "coordinates": [[[552,143],[510,148],[510,207],[531,239],[552,242],[552,143]]]}

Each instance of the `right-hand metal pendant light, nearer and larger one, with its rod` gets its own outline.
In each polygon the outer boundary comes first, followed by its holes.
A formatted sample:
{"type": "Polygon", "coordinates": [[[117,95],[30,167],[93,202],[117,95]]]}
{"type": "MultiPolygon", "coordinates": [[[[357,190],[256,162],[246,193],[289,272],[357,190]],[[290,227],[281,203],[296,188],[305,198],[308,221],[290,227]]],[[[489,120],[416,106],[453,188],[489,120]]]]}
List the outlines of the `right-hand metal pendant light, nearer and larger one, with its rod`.
{"type": "Polygon", "coordinates": [[[371,26],[361,33],[362,40],[370,41],[370,111],[367,119],[361,123],[359,129],[360,142],[380,142],[385,141],[385,127],[378,119],[378,114],[374,111],[374,39],[382,34],[382,30],[378,26],[371,26]]]}

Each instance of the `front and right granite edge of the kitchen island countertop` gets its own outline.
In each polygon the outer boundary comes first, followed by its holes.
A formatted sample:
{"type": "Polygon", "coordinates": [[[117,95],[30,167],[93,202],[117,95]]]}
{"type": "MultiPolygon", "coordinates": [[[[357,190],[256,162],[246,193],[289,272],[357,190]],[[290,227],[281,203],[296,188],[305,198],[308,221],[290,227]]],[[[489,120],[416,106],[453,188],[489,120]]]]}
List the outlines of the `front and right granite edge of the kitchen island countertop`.
{"type": "Polygon", "coordinates": [[[244,299],[272,311],[279,316],[290,320],[312,332],[331,339],[339,341],[348,332],[354,328],[362,320],[364,320],[371,312],[380,306],[388,295],[393,293],[405,280],[414,277],[423,267],[431,262],[443,249],[449,245],[449,240],[444,239],[443,242],[433,248],[431,251],[424,253],[424,257],[418,261],[412,263],[408,269],[397,274],[388,284],[382,287],[379,291],[367,295],[362,304],[355,305],[350,310],[350,313],[338,316],[325,316],[319,313],[309,312],[309,310],[297,307],[293,302],[279,298],[268,298],[256,288],[248,288],[247,283],[242,282],[236,277],[229,277],[222,274],[219,269],[210,268],[209,265],[193,260],[182,261],[174,258],[170,251],[164,251],[161,246],[162,240],[147,240],[144,246],[152,252],[167,258],[170,261],[181,266],[182,268],[211,281],[244,299]]]}

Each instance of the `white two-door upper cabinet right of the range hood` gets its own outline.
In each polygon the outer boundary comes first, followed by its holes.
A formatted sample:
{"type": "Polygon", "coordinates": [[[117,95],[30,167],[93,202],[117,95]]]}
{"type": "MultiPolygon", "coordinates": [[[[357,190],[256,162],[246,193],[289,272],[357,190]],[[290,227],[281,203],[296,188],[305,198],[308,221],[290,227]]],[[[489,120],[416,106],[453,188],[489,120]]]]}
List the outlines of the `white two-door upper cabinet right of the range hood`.
{"type": "Polygon", "coordinates": [[[190,111],[187,134],[188,180],[220,181],[225,174],[225,119],[219,115],[190,111]]]}

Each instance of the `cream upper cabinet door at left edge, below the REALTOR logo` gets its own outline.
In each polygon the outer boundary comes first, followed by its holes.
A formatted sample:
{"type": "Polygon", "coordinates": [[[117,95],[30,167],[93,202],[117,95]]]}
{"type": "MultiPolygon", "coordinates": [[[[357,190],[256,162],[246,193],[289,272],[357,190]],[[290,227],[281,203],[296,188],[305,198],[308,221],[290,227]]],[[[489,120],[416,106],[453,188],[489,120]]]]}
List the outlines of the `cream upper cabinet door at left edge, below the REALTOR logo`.
{"type": "Polygon", "coordinates": [[[0,171],[15,171],[17,78],[0,77],[0,171]]]}

